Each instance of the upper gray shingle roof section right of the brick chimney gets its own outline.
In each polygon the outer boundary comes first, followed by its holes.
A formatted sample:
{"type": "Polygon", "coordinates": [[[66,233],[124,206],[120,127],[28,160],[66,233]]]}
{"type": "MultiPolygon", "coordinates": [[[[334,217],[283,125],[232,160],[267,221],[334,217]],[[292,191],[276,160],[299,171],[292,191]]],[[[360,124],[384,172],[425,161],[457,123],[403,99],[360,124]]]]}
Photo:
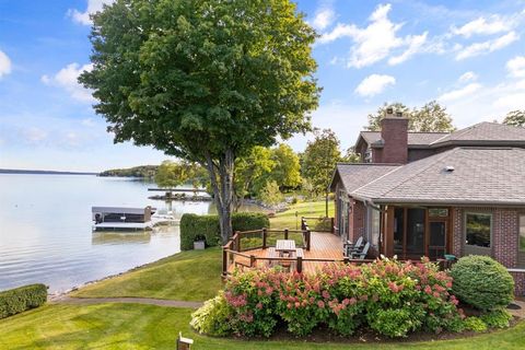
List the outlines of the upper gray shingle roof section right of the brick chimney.
{"type": "Polygon", "coordinates": [[[442,143],[462,143],[466,141],[498,142],[498,141],[518,141],[525,142],[525,128],[513,127],[498,122],[479,122],[471,127],[454,131],[439,140],[434,140],[432,145],[442,143]]]}

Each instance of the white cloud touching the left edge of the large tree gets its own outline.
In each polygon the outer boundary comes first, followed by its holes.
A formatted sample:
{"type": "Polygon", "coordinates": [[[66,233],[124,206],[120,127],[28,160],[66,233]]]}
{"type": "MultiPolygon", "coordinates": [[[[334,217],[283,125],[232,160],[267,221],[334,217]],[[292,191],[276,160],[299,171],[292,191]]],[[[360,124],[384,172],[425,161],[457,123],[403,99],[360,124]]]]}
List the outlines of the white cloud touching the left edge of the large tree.
{"type": "Polygon", "coordinates": [[[71,97],[81,102],[93,102],[91,90],[84,89],[78,82],[79,75],[83,71],[91,71],[92,65],[80,66],[79,63],[70,63],[66,68],[60,69],[54,77],[43,75],[42,82],[46,85],[60,86],[65,89],[71,97]]]}

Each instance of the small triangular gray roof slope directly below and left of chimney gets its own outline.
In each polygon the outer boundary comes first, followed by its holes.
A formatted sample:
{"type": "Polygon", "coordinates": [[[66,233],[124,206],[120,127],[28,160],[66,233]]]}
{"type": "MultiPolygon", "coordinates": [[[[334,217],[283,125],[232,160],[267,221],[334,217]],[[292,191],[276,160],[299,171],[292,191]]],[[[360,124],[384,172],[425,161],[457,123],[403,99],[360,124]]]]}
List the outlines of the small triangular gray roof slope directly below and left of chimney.
{"type": "Polygon", "coordinates": [[[338,163],[330,187],[334,189],[339,176],[347,192],[351,192],[397,167],[397,164],[338,163]]]}

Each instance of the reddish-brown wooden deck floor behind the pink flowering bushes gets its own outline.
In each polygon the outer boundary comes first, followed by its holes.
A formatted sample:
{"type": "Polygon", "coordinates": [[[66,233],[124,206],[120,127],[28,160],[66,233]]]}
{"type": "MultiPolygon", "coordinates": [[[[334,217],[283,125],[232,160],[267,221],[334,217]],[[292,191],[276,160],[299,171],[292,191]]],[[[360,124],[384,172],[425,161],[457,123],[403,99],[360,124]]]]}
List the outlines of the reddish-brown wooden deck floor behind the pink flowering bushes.
{"type": "MultiPolygon", "coordinates": [[[[250,249],[243,252],[241,255],[233,255],[232,264],[229,264],[228,272],[231,273],[235,268],[261,268],[270,265],[270,260],[265,258],[269,257],[269,249],[250,249]],[[255,257],[255,259],[254,259],[255,257]],[[262,259],[260,259],[262,258],[262,259]],[[250,259],[255,260],[250,264],[250,259]]],[[[342,242],[339,236],[328,233],[328,232],[312,232],[311,233],[311,249],[304,249],[304,261],[302,264],[303,272],[314,272],[317,268],[323,266],[323,264],[332,261],[332,260],[342,260],[342,242]],[[312,261],[315,260],[315,261],[312,261]]],[[[278,265],[292,265],[292,270],[295,268],[296,262],[294,261],[273,261],[278,265]]]]}

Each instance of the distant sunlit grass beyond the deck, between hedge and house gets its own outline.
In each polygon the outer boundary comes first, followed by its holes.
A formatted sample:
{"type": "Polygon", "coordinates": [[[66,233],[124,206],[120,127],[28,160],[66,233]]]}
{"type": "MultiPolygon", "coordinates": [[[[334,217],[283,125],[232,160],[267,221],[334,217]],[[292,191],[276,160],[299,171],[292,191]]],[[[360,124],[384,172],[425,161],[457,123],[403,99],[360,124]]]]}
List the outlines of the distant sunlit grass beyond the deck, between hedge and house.
{"type": "MultiPolygon", "coordinates": [[[[328,217],[334,217],[334,200],[328,200],[328,217]]],[[[326,215],[326,202],[324,200],[300,202],[290,206],[283,212],[279,212],[270,219],[271,229],[301,230],[301,217],[320,218],[326,215]]],[[[308,224],[313,224],[311,221],[308,224]]]]}

